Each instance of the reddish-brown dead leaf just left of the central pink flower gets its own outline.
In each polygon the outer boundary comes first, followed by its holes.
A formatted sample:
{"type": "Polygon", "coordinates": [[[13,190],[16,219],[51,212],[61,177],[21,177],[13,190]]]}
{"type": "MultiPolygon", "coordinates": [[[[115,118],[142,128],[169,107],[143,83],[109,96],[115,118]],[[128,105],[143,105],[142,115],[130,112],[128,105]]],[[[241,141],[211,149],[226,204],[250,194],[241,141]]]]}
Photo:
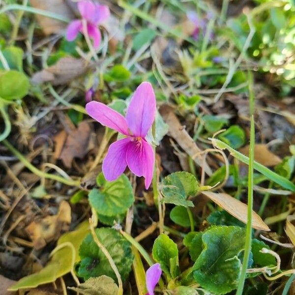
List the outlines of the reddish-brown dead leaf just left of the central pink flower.
{"type": "Polygon", "coordinates": [[[70,129],[66,136],[65,131],[61,131],[55,138],[55,157],[62,160],[63,164],[70,168],[74,158],[83,158],[91,146],[91,129],[86,121],[79,123],[78,128],[70,129]],[[66,136],[66,139],[65,139],[66,136]],[[90,145],[90,146],[89,146],[90,145]]]}

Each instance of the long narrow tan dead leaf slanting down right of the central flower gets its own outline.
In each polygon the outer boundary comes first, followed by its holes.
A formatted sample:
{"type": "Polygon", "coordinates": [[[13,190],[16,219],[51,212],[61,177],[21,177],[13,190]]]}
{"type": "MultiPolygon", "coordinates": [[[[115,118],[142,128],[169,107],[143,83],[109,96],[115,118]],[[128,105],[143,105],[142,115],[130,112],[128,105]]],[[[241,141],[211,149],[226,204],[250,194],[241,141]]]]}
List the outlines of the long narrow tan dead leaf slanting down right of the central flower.
{"type": "Polygon", "coordinates": [[[180,124],[178,118],[174,114],[171,107],[164,105],[159,110],[165,123],[169,126],[169,135],[177,141],[177,144],[191,157],[194,158],[195,163],[202,167],[208,176],[212,175],[212,171],[206,161],[203,161],[204,156],[196,156],[201,149],[196,145],[194,140],[187,133],[185,128],[180,124]]]}

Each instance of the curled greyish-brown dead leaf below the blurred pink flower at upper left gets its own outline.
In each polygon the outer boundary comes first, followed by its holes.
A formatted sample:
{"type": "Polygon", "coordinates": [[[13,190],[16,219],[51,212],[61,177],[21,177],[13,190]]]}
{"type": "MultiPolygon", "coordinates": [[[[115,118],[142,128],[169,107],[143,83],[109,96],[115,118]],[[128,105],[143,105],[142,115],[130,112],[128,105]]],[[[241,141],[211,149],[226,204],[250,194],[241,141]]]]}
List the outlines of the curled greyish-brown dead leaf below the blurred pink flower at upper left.
{"type": "Polygon", "coordinates": [[[74,59],[72,57],[61,58],[54,65],[35,73],[32,76],[31,82],[40,84],[50,82],[52,85],[66,84],[94,66],[85,59],[74,59]]]}

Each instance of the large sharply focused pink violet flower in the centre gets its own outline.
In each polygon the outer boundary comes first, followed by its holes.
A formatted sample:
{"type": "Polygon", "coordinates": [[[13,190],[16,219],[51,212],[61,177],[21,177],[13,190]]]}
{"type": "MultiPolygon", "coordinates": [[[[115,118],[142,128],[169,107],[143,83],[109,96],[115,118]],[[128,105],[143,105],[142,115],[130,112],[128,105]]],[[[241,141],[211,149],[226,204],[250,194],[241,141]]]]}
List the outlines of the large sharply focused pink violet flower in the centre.
{"type": "Polygon", "coordinates": [[[89,102],[86,112],[103,126],[125,136],[110,145],[102,162],[106,180],[117,179],[128,166],[136,176],[145,177],[145,187],[148,189],[153,174],[154,152],[146,136],[156,113],[156,99],[151,84],[143,82],[135,90],[125,118],[97,101],[89,102]]]}

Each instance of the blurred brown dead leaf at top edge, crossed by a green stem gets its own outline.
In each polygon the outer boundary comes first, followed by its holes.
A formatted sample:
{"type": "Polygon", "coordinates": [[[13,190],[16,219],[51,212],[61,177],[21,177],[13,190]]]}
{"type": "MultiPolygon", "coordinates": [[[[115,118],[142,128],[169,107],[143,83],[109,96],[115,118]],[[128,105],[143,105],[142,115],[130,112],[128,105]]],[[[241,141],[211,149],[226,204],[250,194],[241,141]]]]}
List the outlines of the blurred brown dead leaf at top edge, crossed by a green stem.
{"type": "MultiPolygon", "coordinates": [[[[62,15],[69,20],[75,18],[74,13],[70,7],[65,3],[64,0],[30,0],[30,5],[34,8],[54,12],[56,14],[62,15]]],[[[38,23],[43,29],[45,35],[50,35],[52,33],[59,33],[67,27],[67,23],[55,20],[50,17],[36,15],[38,23]]]]}

